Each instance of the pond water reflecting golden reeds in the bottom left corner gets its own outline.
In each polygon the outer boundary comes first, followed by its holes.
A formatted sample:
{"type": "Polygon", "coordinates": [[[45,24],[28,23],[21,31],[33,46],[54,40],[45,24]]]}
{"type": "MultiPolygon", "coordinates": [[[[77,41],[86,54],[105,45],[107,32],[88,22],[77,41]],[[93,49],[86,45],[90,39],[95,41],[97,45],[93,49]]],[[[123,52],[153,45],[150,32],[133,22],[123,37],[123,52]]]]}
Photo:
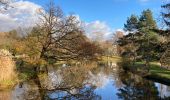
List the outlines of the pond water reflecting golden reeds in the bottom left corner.
{"type": "Polygon", "coordinates": [[[0,100],[41,100],[37,85],[30,81],[13,90],[0,91],[0,100]]]}

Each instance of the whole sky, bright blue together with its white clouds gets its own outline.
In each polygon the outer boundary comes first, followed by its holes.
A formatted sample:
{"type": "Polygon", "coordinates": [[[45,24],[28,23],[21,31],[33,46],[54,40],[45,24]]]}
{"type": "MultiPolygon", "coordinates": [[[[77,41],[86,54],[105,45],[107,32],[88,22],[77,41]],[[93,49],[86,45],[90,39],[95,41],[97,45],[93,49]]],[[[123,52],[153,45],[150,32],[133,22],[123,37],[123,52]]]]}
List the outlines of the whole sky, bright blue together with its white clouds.
{"type": "MultiPolygon", "coordinates": [[[[84,22],[84,30],[89,38],[111,38],[116,30],[122,30],[131,14],[140,15],[151,9],[157,20],[161,5],[170,0],[54,0],[65,15],[75,14],[84,22]],[[100,36],[100,37],[98,37],[100,36]]],[[[38,22],[37,9],[44,7],[48,0],[16,0],[14,8],[1,11],[0,31],[10,31],[18,27],[32,27],[38,22]],[[30,21],[31,20],[31,21],[30,21]]]]}

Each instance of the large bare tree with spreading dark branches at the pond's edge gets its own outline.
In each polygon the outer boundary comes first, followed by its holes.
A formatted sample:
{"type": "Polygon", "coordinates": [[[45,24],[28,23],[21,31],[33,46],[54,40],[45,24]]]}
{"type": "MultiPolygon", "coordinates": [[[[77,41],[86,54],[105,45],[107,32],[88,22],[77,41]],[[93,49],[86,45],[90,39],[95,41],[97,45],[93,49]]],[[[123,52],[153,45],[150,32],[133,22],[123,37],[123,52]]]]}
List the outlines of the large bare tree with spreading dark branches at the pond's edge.
{"type": "Polygon", "coordinates": [[[40,10],[40,21],[34,31],[40,58],[63,61],[79,57],[78,47],[85,41],[80,22],[73,15],[65,17],[52,1],[45,10],[40,10]]]}

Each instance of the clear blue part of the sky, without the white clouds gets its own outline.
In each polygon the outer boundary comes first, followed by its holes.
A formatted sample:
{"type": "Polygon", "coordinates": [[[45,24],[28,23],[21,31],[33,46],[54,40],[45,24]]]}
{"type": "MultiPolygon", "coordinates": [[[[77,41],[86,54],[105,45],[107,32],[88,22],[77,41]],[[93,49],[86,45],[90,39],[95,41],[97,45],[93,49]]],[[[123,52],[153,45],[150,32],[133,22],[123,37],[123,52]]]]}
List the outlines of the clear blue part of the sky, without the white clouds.
{"type": "MultiPolygon", "coordinates": [[[[39,5],[47,0],[29,0],[39,5]]],[[[163,0],[54,0],[63,11],[80,16],[85,22],[99,20],[113,29],[123,28],[128,16],[140,15],[142,10],[151,9],[157,19],[160,15],[163,0]]]]}

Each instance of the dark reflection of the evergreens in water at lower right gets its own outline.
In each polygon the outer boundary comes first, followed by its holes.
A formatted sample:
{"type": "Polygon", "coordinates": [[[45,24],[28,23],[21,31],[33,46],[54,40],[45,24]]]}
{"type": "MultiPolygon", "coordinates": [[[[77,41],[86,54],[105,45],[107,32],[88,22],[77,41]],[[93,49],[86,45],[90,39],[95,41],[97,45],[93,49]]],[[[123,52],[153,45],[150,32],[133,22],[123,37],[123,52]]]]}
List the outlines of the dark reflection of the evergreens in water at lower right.
{"type": "Polygon", "coordinates": [[[158,100],[158,91],[154,83],[131,73],[121,73],[123,87],[117,93],[124,100],[158,100]]]}

